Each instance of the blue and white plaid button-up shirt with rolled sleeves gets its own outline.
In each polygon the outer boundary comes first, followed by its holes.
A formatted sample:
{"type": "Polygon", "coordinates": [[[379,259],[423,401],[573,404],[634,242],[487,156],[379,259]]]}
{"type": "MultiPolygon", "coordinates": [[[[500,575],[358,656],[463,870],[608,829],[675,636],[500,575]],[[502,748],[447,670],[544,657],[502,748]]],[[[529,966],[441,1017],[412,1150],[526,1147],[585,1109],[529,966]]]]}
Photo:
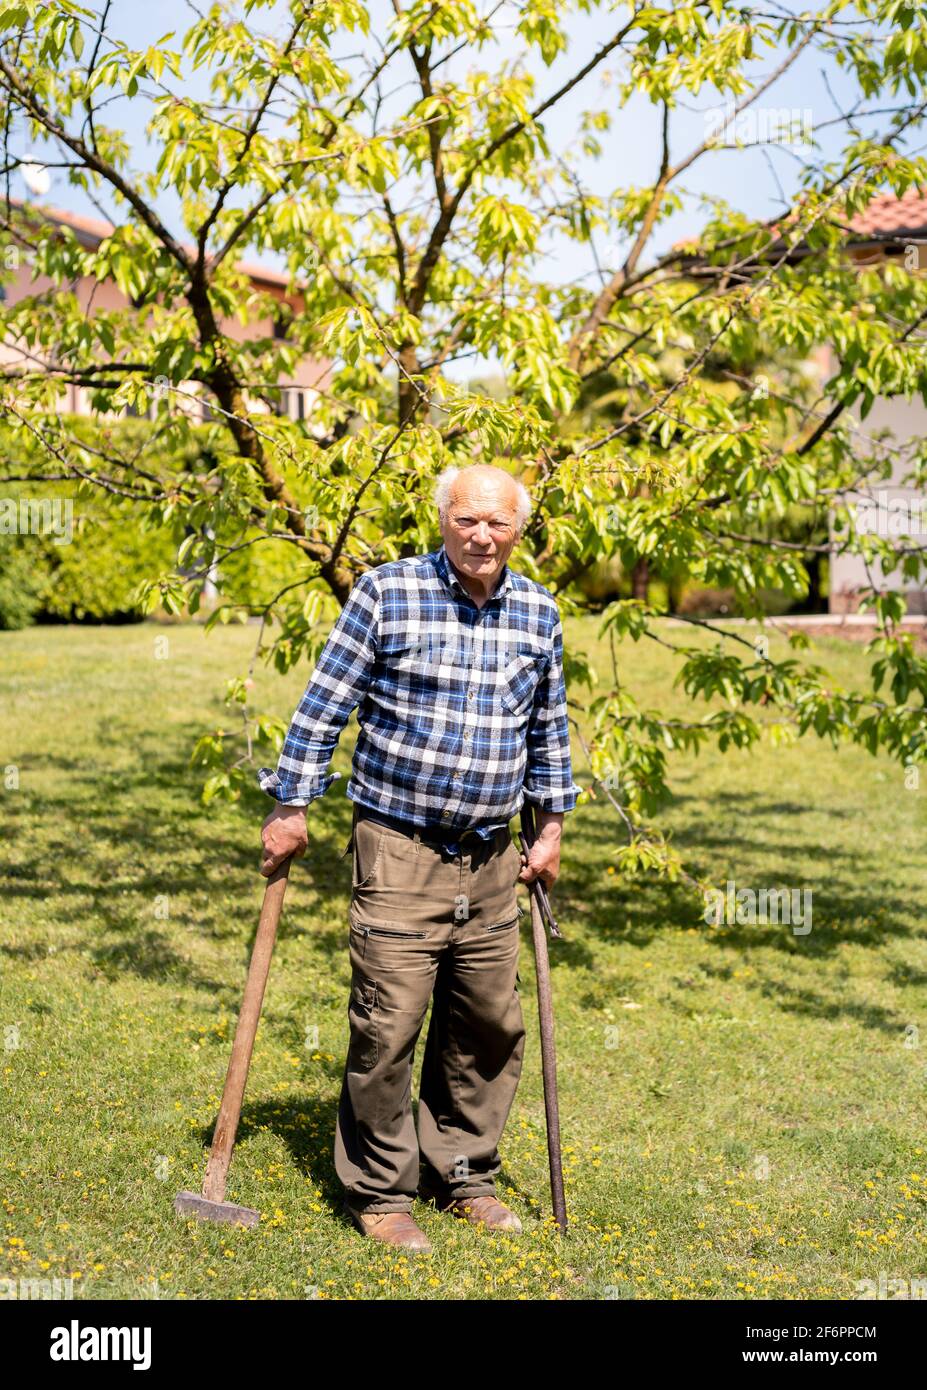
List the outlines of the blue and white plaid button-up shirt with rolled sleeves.
{"type": "Polygon", "coordinates": [[[504,566],[477,607],[445,546],[391,560],[352,589],[290,720],[265,792],[321,796],[352,710],[347,796],[421,828],[507,826],[523,801],[573,810],[563,628],[553,595],[504,566]]]}

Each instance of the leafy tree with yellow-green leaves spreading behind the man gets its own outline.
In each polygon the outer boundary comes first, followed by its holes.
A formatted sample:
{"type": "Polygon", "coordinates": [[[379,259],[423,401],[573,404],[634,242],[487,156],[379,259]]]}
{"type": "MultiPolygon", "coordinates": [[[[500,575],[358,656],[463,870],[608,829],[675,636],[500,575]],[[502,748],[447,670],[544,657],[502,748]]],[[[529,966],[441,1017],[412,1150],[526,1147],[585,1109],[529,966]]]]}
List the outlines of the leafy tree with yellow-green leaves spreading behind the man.
{"type": "MultiPolygon", "coordinates": [[[[111,32],[108,3],[0,10],[6,170],[40,150],[115,224],[89,250],[7,204],[7,250],[28,249],[54,289],[3,307],[7,341],[31,353],[6,371],[4,417],[43,443],[31,481],[76,478],[132,499],[151,523],[182,518],[175,571],[153,575],[145,600],[192,612],[215,559],[288,545],[277,592],[224,603],[210,621],[257,612],[257,655],[281,671],[309,663],[363,570],[435,543],[431,480],[474,457],[531,485],[516,563],[566,610],[584,569],[618,555],[630,571],[684,564],[759,612],[764,589],[807,588],[807,542],[782,539],[777,520],[821,507],[848,523],[848,549],[919,575],[916,545],[899,550],[849,523],[858,489],[892,467],[892,446],[864,431],[873,399],[927,399],[927,285],[903,263],[860,270],[845,246],[849,217],[877,190],[902,195],[927,175],[912,153],[927,101],[923,6],[828,0],[794,15],[742,0],[396,0],[381,19],[371,26],[360,0],[214,4],[182,38],[136,51],[111,32]],[[568,68],[577,14],[593,17],[600,42],[555,81],[546,70],[568,68]],[[855,97],[792,152],[796,196],[782,195],[769,220],[710,197],[699,238],[660,250],[691,171],[741,157],[745,122],[769,113],[777,82],[809,56],[839,68],[855,97]],[[190,72],[207,95],[183,89],[190,72]],[[730,100],[732,120],[682,147],[680,107],[705,93],[730,100]],[[120,95],[151,103],[153,172],[132,168],[128,140],[106,124],[120,95]],[[577,97],[584,115],[564,121],[577,97]],[[641,103],[659,135],[652,181],[591,190],[577,156],[600,157],[616,122],[635,138],[641,103]],[[158,211],[167,190],[192,249],[158,211]],[[552,245],[567,247],[574,278],[552,278],[552,245]],[[246,249],[278,253],[304,281],[285,339],[239,343],[220,331],[224,314],[271,307],[235,270],[246,249]],[[69,289],[81,275],[111,275],[131,307],[85,316],[69,289]],[[824,342],[839,367],[810,398],[788,366],[771,368],[766,392],[744,370],[824,342]],[[249,413],[246,393],[285,379],[304,353],[335,364],[315,432],[249,413]],[[504,368],[500,399],[453,379],[452,364],[481,357],[504,368]],[[719,370],[744,389],[719,392],[719,370]],[[607,421],[582,409],[603,374],[607,421]],[[68,382],[99,411],[157,400],[151,448],[179,456],[190,424],[165,404],[183,381],[214,403],[206,474],[168,475],[103,434],[78,441],[56,411],[68,382]]],[[[924,461],[916,450],[917,481],[924,461]]],[[[927,664],[899,631],[901,596],[873,585],[869,602],[871,680],[853,691],[835,689],[801,649],[771,660],[737,635],[673,641],[642,594],[607,609],[606,631],[674,646],[691,699],[688,717],[666,717],[616,671],[591,705],[593,787],[624,827],[627,872],[685,872],[650,826],[674,749],[816,734],[923,759],[927,664]]],[[[588,677],[581,655],[568,674],[575,695],[588,677]]],[[[282,731],[249,709],[243,678],[231,698],[246,749],[218,734],[202,741],[207,795],[236,795],[253,739],[282,731]]]]}

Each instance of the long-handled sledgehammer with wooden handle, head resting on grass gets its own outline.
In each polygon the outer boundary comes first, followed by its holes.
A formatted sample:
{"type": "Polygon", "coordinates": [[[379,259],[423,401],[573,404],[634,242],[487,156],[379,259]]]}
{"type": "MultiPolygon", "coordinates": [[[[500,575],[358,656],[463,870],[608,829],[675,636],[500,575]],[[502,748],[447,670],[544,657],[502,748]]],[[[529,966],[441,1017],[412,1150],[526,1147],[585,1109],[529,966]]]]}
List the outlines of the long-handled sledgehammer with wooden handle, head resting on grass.
{"type": "Polygon", "coordinates": [[[264,988],[271,967],[277,927],[284,908],[284,895],[292,862],[290,858],[278,865],[268,877],[267,887],[264,888],[261,920],[254,937],[252,963],[247,967],[247,984],[245,986],[242,1012],[238,1016],[232,1055],[225,1074],[222,1104],[215,1120],[213,1150],[210,1161],[206,1165],[203,1193],[178,1193],[174,1198],[174,1211],[178,1216],[199,1216],[202,1220],[218,1220],[240,1226],[257,1226],[261,1219],[261,1213],[256,1212],[252,1207],[238,1207],[235,1202],[225,1201],[225,1182],[228,1179],[228,1165],[232,1161],[238,1122],[242,1115],[242,1099],[245,1097],[247,1072],[252,1065],[254,1037],[261,1016],[264,988]]]}

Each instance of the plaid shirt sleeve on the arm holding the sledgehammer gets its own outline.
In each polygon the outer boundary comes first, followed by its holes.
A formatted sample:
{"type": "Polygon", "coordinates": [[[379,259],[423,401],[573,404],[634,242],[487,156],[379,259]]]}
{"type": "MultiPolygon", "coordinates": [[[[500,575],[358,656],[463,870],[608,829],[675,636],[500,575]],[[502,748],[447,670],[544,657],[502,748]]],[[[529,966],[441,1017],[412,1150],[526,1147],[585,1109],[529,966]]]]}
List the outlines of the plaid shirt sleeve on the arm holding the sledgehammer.
{"type": "Polygon", "coordinates": [[[331,630],[277,762],[261,767],[261,790],[284,806],[307,806],[336,780],[327,773],[352,710],[364,698],[377,657],[379,595],[372,574],[360,577],[331,630]]]}

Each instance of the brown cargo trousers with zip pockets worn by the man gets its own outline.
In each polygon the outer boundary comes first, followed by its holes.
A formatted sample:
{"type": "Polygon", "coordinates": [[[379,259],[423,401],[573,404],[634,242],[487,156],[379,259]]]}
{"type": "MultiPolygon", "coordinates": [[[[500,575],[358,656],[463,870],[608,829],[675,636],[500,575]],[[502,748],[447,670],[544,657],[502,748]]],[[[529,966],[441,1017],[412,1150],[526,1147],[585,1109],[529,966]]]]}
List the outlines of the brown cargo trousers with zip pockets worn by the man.
{"type": "Polygon", "coordinates": [[[420,1177],[443,1197],[495,1190],[525,1037],[521,855],[507,828],[459,848],[449,858],[354,820],[350,1042],[335,1130],[335,1170],[354,1211],[411,1212],[420,1177]],[[416,1136],[413,1058],[432,998],[416,1136]]]}

